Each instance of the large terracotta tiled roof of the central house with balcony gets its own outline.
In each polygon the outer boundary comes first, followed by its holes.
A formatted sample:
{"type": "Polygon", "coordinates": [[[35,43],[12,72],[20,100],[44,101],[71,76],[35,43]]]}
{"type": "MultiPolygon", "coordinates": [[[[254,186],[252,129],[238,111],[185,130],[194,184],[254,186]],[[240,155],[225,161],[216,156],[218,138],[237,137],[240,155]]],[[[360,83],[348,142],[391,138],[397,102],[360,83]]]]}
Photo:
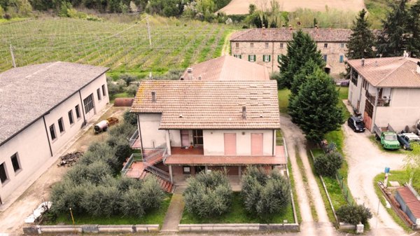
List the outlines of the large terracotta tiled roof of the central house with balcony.
{"type": "Polygon", "coordinates": [[[276,81],[146,80],[139,86],[131,112],[162,113],[160,129],[164,130],[280,127],[276,81]],[[246,106],[246,119],[242,106],[246,106]]]}

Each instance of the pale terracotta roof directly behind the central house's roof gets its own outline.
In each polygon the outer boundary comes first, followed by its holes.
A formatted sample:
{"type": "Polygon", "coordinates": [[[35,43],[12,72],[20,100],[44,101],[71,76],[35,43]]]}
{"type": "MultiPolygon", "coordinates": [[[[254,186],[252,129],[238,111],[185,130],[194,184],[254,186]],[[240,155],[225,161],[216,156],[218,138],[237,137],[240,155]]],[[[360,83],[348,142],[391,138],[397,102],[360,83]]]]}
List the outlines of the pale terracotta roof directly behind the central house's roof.
{"type": "MultiPolygon", "coordinates": [[[[199,76],[204,81],[268,81],[269,74],[267,67],[259,64],[240,60],[237,57],[225,55],[200,64],[195,64],[193,78],[199,76]]],[[[190,79],[188,69],[184,72],[183,78],[190,79]]]]}

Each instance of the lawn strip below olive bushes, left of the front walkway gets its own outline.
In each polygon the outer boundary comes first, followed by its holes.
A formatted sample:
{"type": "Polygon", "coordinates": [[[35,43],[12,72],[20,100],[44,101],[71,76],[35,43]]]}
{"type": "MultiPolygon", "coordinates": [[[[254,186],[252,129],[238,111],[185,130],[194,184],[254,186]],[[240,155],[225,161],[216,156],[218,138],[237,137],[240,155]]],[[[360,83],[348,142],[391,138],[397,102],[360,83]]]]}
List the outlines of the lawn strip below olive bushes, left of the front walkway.
{"type": "MultiPolygon", "coordinates": [[[[86,215],[77,215],[74,214],[74,221],[76,225],[84,224],[99,224],[99,225],[132,225],[132,224],[160,224],[162,225],[163,219],[171,202],[172,194],[167,194],[165,200],[162,202],[162,207],[148,212],[142,218],[135,216],[111,216],[110,218],[106,217],[94,217],[86,215]]],[[[44,221],[45,225],[72,225],[70,212],[67,214],[60,214],[57,217],[56,221],[44,221]]]]}

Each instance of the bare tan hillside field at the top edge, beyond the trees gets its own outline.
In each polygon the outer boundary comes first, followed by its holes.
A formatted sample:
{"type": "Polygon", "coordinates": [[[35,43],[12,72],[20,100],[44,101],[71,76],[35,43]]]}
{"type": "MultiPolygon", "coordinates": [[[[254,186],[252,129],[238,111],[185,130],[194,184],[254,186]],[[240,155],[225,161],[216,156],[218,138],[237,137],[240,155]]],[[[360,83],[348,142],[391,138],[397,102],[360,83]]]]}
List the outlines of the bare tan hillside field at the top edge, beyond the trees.
{"type": "MultiPolygon", "coordinates": [[[[277,0],[282,11],[295,11],[297,8],[309,8],[313,11],[325,11],[328,8],[336,8],[342,11],[360,11],[365,7],[363,0],[277,0]]],[[[232,0],[228,6],[221,8],[221,12],[228,15],[248,14],[249,4],[255,4],[258,9],[269,8],[267,0],[232,0]]]]}

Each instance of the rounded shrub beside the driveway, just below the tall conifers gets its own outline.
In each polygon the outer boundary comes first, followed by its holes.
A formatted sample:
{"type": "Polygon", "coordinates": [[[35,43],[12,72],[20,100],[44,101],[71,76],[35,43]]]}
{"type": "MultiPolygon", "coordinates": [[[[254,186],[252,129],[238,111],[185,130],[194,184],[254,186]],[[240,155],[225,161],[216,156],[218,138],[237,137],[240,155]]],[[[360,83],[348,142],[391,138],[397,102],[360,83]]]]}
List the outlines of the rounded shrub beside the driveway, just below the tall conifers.
{"type": "Polygon", "coordinates": [[[343,157],[340,153],[331,152],[320,155],[314,160],[314,168],[316,173],[324,176],[335,176],[337,170],[341,168],[343,157]]]}

